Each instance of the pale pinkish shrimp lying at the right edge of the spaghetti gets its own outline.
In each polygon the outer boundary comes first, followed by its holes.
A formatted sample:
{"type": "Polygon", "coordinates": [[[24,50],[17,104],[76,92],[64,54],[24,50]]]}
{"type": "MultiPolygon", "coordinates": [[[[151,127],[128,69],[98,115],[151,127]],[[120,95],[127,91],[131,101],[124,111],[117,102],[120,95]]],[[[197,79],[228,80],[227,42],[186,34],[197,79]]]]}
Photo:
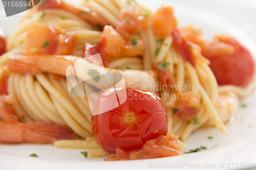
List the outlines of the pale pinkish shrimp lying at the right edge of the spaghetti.
{"type": "MultiPolygon", "coordinates": [[[[215,105],[215,109],[222,122],[227,123],[238,112],[238,96],[233,92],[221,93],[215,105]]],[[[204,126],[214,126],[214,123],[209,119],[204,126]]]]}

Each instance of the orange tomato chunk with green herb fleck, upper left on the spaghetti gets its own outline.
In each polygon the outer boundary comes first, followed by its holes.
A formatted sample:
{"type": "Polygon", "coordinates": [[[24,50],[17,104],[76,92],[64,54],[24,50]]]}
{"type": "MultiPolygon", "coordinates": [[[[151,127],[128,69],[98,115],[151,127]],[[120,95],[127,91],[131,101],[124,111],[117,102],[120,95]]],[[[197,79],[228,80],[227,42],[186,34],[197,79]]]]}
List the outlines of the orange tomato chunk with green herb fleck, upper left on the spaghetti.
{"type": "Polygon", "coordinates": [[[33,23],[24,40],[23,52],[29,55],[70,55],[76,36],[67,36],[60,28],[33,23]]]}

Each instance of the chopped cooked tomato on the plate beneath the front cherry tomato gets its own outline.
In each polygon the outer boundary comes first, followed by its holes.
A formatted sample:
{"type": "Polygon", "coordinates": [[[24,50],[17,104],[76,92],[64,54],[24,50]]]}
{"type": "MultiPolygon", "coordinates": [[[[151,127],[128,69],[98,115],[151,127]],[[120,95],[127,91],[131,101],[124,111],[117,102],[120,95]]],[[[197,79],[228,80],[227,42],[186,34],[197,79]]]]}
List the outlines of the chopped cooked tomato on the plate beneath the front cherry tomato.
{"type": "Polygon", "coordinates": [[[116,154],[110,155],[106,160],[134,160],[134,159],[151,159],[169,156],[182,155],[180,146],[178,145],[178,136],[160,135],[156,139],[148,140],[143,148],[137,151],[124,152],[116,149],[116,154]]]}

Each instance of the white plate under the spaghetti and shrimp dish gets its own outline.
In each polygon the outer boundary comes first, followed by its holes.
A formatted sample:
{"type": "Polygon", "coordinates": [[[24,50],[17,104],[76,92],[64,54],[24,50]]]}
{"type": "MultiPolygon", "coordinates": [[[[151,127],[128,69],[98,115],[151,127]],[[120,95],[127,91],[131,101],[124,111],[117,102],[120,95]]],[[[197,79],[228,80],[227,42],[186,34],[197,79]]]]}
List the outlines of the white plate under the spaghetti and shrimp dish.
{"type": "MultiPolygon", "coordinates": [[[[202,28],[207,39],[217,33],[228,34],[239,39],[256,56],[256,3],[251,1],[226,0],[175,0],[139,1],[155,10],[162,4],[175,7],[179,26],[195,25],[202,28]],[[238,14],[239,12],[239,14],[238,14]]],[[[16,26],[20,16],[6,18],[0,4],[0,27],[8,34],[16,26]]],[[[232,123],[227,124],[229,135],[217,129],[200,129],[185,142],[186,151],[200,146],[208,148],[199,153],[159,159],[105,162],[103,158],[84,159],[79,149],[59,149],[51,144],[0,144],[0,169],[234,169],[256,167],[256,94],[241,101],[247,104],[240,108],[232,123]],[[214,139],[208,139],[214,136],[214,139]],[[35,153],[40,158],[28,157],[35,153]],[[159,167],[160,166],[160,167],[159,167]]]]}

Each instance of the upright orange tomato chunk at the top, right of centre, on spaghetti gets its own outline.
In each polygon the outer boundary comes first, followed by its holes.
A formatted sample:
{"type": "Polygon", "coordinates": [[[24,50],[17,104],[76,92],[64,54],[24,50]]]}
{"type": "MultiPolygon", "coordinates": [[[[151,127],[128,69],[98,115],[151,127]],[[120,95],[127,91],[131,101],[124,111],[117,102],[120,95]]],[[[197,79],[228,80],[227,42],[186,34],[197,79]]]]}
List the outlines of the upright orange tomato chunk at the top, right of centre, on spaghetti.
{"type": "Polygon", "coordinates": [[[174,16],[174,9],[168,5],[160,7],[154,17],[153,30],[155,35],[166,37],[177,27],[178,22],[174,16]]]}

